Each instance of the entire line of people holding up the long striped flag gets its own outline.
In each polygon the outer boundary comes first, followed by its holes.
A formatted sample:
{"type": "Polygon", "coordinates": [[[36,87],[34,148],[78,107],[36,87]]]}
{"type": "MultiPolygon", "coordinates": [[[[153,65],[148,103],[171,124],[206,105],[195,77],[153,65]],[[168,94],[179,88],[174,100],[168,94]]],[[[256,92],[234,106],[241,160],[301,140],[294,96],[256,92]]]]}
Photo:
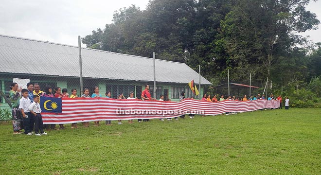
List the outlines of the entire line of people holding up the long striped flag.
{"type": "MultiPolygon", "coordinates": [[[[50,130],[59,130],[65,129],[64,124],[59,124],[59,128],[56,127],[56,124],[43,124],[42,116],[41,116],[41,107],[39,105],[40,97],[52,97],[52,98],[77,98],[77,89],[71,89],[71,95],[68,94],[67,88],[59,88],[55,87],[54,89],[50,86],[46,86],[44,91],[40,90],[39,84],[28,83],[27,88],[20,89],[17,83],[12,83],[10,86],[9,97],[12,105],[12,124],[14,134],[26,134],[26,135],[47,135],[46,131],[50,130]],[[24,129],[24,132],[21,130],[24,129]]],[[[94,92],[89,95],[89,89],[85,88],[83,91],[82,98],[99,98],[102,95],[99,92],[99,87],[94,87],[94,92]]],[[[111,98],[111,92],[106,92],[106,98],[111,98]]],[[[118,94],[117,99],[138,99],[134,97],[134,92],[131,91],[128,94],[128,97],[121,93],[118,94]]],[[[145,85],[145,89],[142,92],[141,96],[142,100],[157,100],[156,98],[151,97],[149,91],[149,85],[145,85]]],[[[179,95],[179,101],[183,101],[185,99],[185,92],[182,91],[179,95]]],[[[194,99],[194,97],[191,97],[194,99]]],[[[236,98],[235,96],[229,96],[227,99],[224,99],[224,95],[221,95],[220,99],[217,99],[217,95],[211,99],[211,95],[204,94],[202,101],[208,101],[213,103],[218,103],[222,101],[254,101],[259,99],[265,99],[264,95],[258,94],[257,96],[250,96],[247,98],[244,95],[243,98],[236,98]]],[[[271,94],[267,100],[278,100],[280,101],[280,108],[282,109],[282,97],[279,95],[277,99],[274,99],[273,94],[271,94]]],[[[160,95],[159,101],[164,101],[164,95],[160,95]]],[[[170,101],[170,99],[168,99],[170,101]]],[[[285,97],[285,109],[289,107],[289,99],[285,97]]],[[[185,115],[180,116],[180,118],[184,118],[185,115]]],[[[193,119],[195,116],[193,114],[189,114],[189,117],[193,119]]],[[[178,120],[178,117],[174,118],[178,120]]],[[[172,120],[168,118],[167,120],[172,120]]],[[[148,122],[149,119],[138,119],[138,122],[148,122]]],[[[164,119],[160,119],[160,121],[164,121],[164,119]]],[[[99,126],[100,121],[95,121],[94,126],[99,126]]],[[[128,120],[128,123],[133,123],[133,120],[128,120]]],[[[118,124],[123,124],[122,120],[118,120],[118,124]]],[[[106,121],[106,125],[111,125],[111,121],[106,121]]],[[[84,127],[89,127],[89,122],[83,122],[84,127]]],[[[71,123],[71,128],[78,128],[77,123],[71,123]]]]}

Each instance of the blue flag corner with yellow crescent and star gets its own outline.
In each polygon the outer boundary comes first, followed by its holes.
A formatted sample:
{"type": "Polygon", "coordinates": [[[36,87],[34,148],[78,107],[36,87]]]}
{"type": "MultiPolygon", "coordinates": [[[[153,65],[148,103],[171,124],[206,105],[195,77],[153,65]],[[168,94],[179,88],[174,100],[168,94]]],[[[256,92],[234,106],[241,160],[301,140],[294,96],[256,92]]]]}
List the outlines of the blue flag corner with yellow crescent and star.
{"type": "Polygon", "coordinates": [[[61,113],[61,106],[61,98],[40,97],[41,112],[61,113]]]}

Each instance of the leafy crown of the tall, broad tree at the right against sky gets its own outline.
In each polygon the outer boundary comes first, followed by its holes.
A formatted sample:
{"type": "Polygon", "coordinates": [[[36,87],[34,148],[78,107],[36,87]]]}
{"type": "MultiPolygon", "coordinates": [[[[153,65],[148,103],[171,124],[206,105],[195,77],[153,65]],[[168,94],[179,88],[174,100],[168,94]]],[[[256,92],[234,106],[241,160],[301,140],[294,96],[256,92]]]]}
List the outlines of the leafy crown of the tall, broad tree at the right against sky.
{"type": "Polygon", "coordinates": [[[295,32],[316,29],[320,21],[305,10],[309,0],[237,0],[221,23],[222,41],[240,77],[269,77],[278,59],[306,41],[295,32]],[[243,76],[242,76],[243,75],[243,76]]]}

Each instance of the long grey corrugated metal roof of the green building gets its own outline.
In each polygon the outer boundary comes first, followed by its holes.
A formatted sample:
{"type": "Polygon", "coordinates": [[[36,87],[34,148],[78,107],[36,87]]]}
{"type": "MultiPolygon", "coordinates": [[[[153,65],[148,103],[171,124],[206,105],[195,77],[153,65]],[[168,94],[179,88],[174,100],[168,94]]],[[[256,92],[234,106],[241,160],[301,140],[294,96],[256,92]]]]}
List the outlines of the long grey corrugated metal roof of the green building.
{"type": "MultiPolygon", "coordinates": [[[[82,48],[84,78],[153,81],[153,59],[82,48]]],[[[78,47],[0,35],[0,72],[79,77],[78,47]],[[19,63],[19,64],[17,64],[19,63]],[[38,69],[32,68],[40,64],[38,69]]],[[[188,83],[198,73],[184,63],[156,59],[156,81],[188,83]]],[[[204,77],[201,84],[211,85],[204,77]]]]}

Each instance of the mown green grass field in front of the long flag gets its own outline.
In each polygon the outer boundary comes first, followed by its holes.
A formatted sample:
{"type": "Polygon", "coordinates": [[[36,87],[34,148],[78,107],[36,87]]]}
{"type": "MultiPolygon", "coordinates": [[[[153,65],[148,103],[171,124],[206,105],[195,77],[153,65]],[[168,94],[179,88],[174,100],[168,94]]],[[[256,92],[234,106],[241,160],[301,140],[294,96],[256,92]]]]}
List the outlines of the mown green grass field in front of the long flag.
{"type": "Polygon", "coordinates": [[[0,124],[0,174],[321,174],[321,109],[13,135],[0,124]]]}

